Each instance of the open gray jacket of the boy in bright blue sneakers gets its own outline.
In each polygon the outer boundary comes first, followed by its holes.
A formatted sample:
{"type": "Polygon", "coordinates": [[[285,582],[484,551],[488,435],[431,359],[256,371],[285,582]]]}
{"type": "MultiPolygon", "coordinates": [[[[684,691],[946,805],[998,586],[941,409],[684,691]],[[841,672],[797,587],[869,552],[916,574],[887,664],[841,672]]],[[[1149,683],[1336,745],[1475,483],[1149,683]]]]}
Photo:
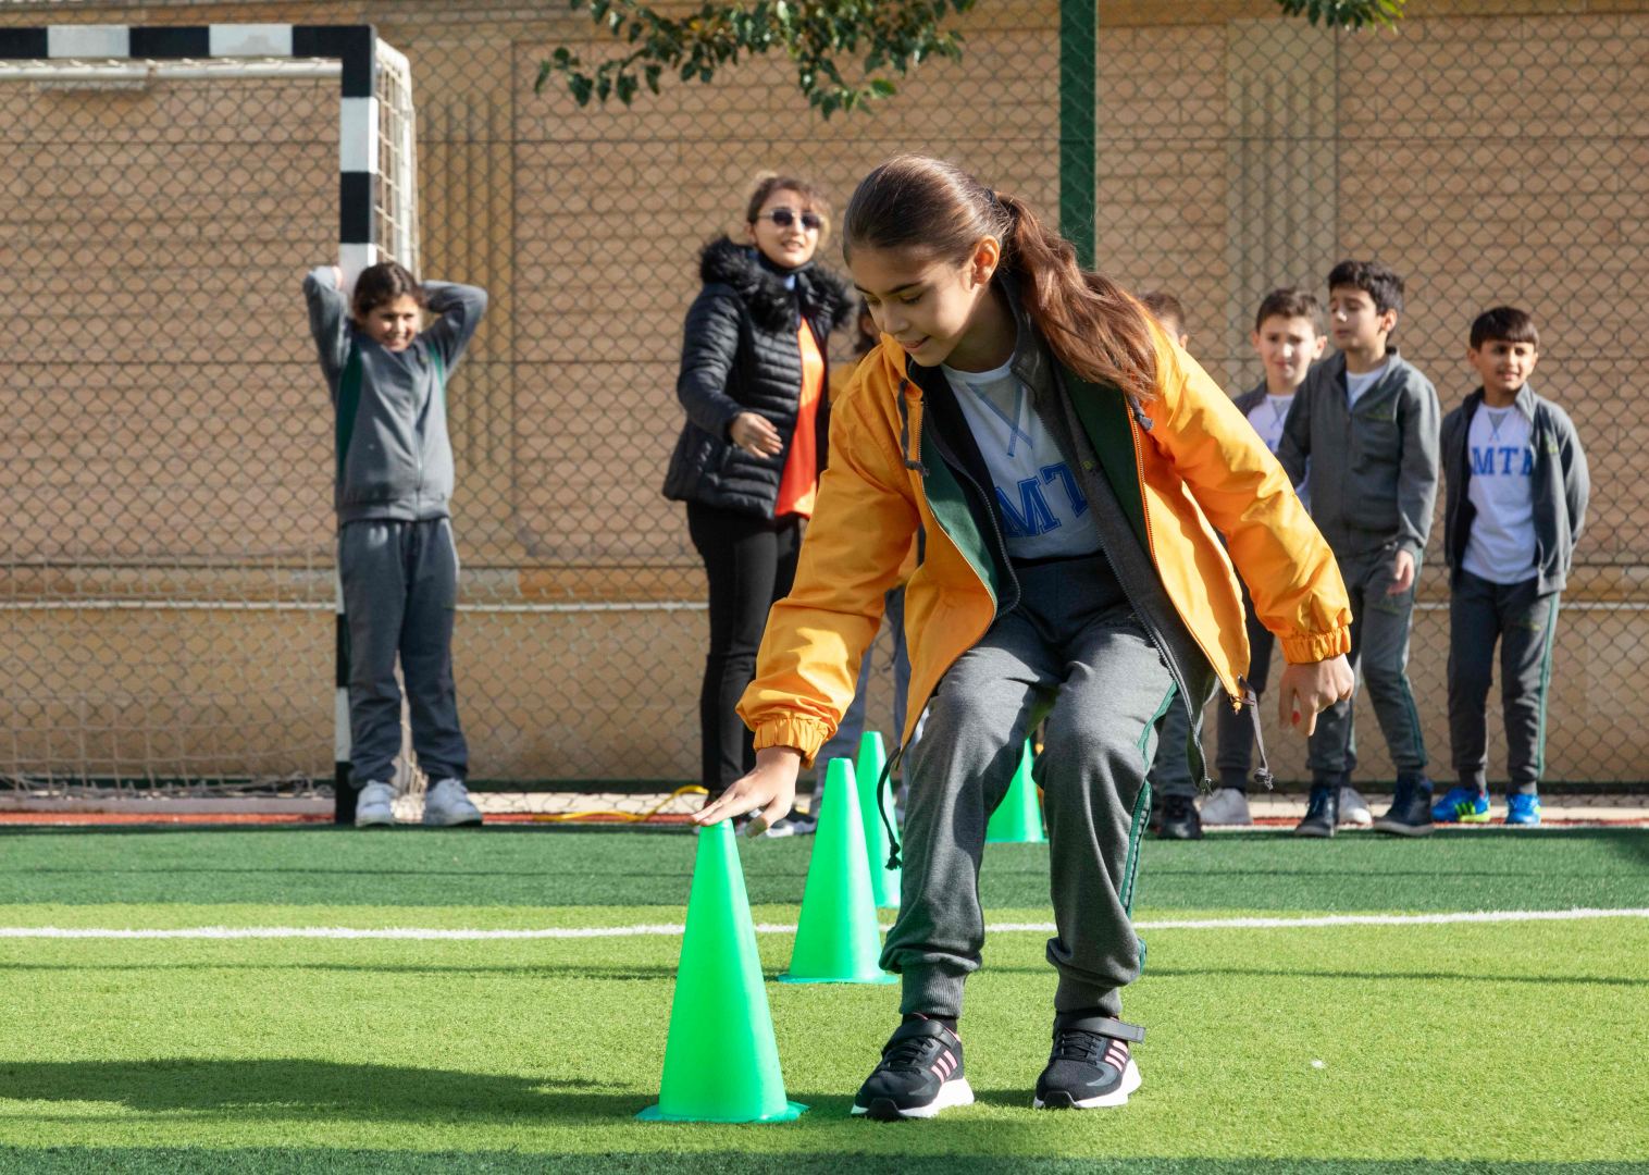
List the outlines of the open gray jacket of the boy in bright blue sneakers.
{"type": "MultiPolygon", "coordinates": [[[[1478,513],[1471,505],[1471,457],[1466,441],[1471,437],[1471,418],[1479,408],[1482,388],[1443,418],[1443,477],[1448,487],[1443,498],[1443,558],[1451,586],[1459,583],[1471,520],[1478,513]]],[[[1517,393],[1515,408],[1529,421],[1529,444],[1535,451],[1530,485],[1535,505],[1535,576],[1540,581],[1535,591],[1543,596],[1563,591],[1568,581],[1575,543],[1586,525],[1591,475],[1586,451],[1580,447],[1580,434],[1568,413],[1545,396],[1537,396],[1527,383],[1517,393]]]]}

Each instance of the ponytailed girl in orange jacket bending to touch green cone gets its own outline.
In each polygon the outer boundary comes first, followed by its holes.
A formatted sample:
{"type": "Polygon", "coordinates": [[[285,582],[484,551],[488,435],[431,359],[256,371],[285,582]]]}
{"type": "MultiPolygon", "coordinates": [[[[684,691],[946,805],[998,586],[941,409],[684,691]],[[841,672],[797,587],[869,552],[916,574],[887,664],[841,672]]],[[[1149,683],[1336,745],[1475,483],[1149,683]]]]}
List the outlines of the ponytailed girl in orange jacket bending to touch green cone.
{"type": "Polygon", "coordinates": [[[1044,718],[1059,984],[1034,1104],[1116,1106],[1139,1084],[1143,1030],[1118,1017],[1143,962],[1130,908],[1163,715],[1214,678],[1253,700],[1235,559],[1290,662],[1283,715],[1309,731],[1351,695],[1346,588],[1230,399],[1024,201],[902,155],[859,183],[844,251],[882,342],[836,403],[795,586],[740,701],[755,771],[696,819],[754,814],[760,832],[790,810],[920,525],[905,738],[923,703],[928,720],[882,954],[904,1018],[854,1114],[973,1099],[958,1018],[984,937],[984,825],[1044,718]]]}

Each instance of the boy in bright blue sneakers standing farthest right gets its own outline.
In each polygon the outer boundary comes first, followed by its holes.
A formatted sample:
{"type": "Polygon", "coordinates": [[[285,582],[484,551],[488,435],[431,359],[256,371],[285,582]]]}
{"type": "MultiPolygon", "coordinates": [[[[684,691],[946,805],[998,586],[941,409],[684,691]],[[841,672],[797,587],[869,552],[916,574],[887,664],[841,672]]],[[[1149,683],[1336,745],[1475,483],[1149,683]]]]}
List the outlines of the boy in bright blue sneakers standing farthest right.
{"type": "Polygon", "coordinates": [[[1484,715],[1496,640],[1510,776],[1506,822],[1540,823],[1552,635],[1591,482],[1575,424],[1529,383],[1539,358],[1529,314],[1497,305],[1478,315],[1466,361],[1482,386],[1443,418],[1448,723],[1459,786],[1431,819],[1446,823],[1489,819],[1484,715]]]}

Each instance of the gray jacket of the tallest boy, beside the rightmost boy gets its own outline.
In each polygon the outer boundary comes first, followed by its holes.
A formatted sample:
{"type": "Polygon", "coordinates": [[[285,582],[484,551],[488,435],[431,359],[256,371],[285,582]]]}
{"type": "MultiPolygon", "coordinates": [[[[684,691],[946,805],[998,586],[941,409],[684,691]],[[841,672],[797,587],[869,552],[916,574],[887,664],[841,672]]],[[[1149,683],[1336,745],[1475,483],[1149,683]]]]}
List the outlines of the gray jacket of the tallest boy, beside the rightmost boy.
{"type": "Polygon", "coordinates": [[[1346,355],[1319,360],[1294,393],[1276,459],[1337,556],[1408,551],[1420,559],[1438,497],[1438,393],[1397,348],[1385,375],[1346,403],[1346,355]]]}

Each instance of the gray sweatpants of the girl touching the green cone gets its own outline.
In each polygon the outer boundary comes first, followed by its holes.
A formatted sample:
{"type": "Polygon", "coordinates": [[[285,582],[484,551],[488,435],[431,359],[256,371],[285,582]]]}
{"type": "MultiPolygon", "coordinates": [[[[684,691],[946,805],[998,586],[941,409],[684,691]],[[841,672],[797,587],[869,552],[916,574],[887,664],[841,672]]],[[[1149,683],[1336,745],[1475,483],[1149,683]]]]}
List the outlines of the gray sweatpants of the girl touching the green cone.
{"type": "Polygon", "coordinates": [[[940,680],[912,757],[900,909],[882,949],[882,967],[904,975],[905,1013],[961,1015],[984,944],[984,825],[1044,715],[1054,1007],[1118,1015],[1118,989],[1139,977],[1128,911],[1172,677],[1103,556],[1022,568],[1019,583],[1019,606],[940,680]]]}

